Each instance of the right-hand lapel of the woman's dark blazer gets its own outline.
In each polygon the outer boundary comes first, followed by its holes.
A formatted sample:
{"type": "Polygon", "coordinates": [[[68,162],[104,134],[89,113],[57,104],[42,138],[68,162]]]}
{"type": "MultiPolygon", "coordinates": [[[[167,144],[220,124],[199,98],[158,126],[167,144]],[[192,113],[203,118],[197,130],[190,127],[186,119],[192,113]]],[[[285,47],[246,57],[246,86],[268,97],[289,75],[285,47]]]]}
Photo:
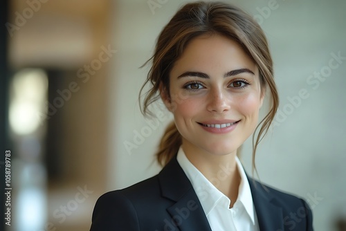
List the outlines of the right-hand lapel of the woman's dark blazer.
{"type": "Polygon", "coordinates": [[[248,183],[251,187],[260,230],[284,230],[282,209],[272,203],[271,194],[252,178],[248,178],[248,183]]]}

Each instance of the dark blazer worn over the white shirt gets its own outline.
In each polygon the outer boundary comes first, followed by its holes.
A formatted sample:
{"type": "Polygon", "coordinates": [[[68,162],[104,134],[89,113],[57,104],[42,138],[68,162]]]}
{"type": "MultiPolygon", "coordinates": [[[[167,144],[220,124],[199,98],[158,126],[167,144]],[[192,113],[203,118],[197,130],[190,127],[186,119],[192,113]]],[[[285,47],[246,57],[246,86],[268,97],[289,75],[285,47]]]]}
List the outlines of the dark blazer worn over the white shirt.
{"type": "MultiPolygon", "coordinates": [[[[313,230],[305,201],[249,178],[260,230],[313,230]]],[[[91,231],[211,231],[199,198],[173,158],[161,172],[98,198],[91,231]]],[[[218,231],[218,230],[213,230],[218,231]]]]}

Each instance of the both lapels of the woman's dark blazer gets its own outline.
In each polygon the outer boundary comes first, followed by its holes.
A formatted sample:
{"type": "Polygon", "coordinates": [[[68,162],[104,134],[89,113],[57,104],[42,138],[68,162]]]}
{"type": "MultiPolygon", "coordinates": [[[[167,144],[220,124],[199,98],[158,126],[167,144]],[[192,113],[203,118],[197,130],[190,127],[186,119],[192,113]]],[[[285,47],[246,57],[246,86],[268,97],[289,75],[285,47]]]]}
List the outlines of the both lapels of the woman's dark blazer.
{"type": "MultiPolygon", "coordinates": [[[[212,231],[199,198],[176,156],[158,174],[158,181],[162,196],[175,202],[167,211],[176,227],[181,231],[212,231]]],[[[270,191],[252,178],[248,178],[248,183],[260,230],[284,230],[282,208],[273,203],[275,198],[270,191]]]]}

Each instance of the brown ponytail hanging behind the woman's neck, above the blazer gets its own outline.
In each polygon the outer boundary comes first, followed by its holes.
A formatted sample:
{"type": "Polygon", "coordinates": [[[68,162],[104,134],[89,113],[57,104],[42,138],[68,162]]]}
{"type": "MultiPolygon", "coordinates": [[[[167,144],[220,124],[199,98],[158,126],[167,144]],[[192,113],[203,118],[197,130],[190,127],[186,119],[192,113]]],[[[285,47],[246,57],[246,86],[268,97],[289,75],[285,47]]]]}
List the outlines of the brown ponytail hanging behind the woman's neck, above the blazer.
{"type": "Polygon", "coordinates": [[[181,142],[181,134],[178,129],[176,129],[174,121],[172,121],[168,124],[161,138],[160,145],[158,146],[158,151],[156,153],[158,163],[162,166],[167,165],[179,151],[181,142]]]}

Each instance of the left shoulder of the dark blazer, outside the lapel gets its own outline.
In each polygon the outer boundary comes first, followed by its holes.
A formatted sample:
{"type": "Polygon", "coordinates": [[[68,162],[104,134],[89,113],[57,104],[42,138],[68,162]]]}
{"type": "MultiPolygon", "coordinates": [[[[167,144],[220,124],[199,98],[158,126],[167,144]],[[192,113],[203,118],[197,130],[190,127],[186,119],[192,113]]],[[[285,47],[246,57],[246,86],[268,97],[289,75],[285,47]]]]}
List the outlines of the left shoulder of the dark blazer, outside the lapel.
{"type": "Polygon", "coordinates": [[[160,227],[170,217],[167,207],[172,204],[161,195],[158,175],[152,176],[121,190],[102,194],[95,203],[91,230],[149,230],[148,227],[160,227]]]}

